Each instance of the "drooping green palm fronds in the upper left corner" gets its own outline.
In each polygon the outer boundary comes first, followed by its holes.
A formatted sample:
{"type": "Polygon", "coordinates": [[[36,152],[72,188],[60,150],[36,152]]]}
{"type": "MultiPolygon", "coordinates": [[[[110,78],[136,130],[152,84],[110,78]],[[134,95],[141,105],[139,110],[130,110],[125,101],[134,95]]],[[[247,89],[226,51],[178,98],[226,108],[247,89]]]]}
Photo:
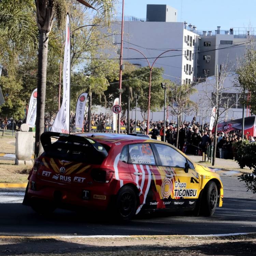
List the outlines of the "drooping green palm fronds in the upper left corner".
{"type": "Polygon", "coordinates": [[[33,0],[0,1],[0,64],[14,73],[17,55],[37,48],[37,24],[33,0]]]}

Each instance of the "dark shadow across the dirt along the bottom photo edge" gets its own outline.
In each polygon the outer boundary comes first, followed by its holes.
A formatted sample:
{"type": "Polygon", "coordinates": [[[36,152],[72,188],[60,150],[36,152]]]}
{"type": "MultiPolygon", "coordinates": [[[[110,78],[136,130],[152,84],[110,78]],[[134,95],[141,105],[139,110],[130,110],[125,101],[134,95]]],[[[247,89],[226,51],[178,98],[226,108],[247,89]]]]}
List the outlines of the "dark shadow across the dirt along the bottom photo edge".
{"type": "MultiPolygon", "coordinates": [[[[111,240],[114,241],[114,240],[111,240]]],[[[110,241],[110,244],[111,244],[110,241]]],[[[254,240],[255,241],[255,240],[254,240]]],[[[14,241],[12,241],[14,242],[14,241]]],[[[99,242],[98,242],[99,244],[99,242]]],[[[35,239],[0,244],[0,255],[256,255],[253,241],[217,242],[181,246],[173,245],[129,245],[102,246],[72,243],[55,239],[35,239]]]]}

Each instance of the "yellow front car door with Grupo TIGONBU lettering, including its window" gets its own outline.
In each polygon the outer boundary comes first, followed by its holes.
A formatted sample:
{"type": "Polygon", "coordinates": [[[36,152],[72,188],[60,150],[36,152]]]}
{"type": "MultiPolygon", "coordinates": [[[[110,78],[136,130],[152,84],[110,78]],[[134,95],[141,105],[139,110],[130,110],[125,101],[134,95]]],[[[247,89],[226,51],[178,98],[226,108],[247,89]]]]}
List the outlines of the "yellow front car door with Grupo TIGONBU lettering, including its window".
{"type": "Polygon", "coordinates": [[[161,172],[162,208],[195,207],[199,190],[199,175],[194,165],[173,147],[153,143],[161,172]],[[185,164],[189,167],[185,168],[185,164]]]}

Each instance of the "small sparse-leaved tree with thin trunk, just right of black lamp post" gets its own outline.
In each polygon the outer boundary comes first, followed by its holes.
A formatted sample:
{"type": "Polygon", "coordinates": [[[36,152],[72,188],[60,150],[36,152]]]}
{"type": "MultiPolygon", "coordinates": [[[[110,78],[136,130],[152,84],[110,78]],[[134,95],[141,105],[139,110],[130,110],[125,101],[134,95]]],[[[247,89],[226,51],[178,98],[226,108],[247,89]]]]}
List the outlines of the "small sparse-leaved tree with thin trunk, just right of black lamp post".
{"type": "MultiPolygon", "coordinates": [[[[196,111],[197,104],[190,100],[190,96],[196,93],[196,89],[191,84],[178,85],[170,82],[167,86],[167,101],[171,108],[171,113],[177,116],[177,139],[176,147],[179,142],[180,117],[182,114],[188,114],[196,111]]],[[[181,149],[182,150],[182,149],[181,149]]]]}

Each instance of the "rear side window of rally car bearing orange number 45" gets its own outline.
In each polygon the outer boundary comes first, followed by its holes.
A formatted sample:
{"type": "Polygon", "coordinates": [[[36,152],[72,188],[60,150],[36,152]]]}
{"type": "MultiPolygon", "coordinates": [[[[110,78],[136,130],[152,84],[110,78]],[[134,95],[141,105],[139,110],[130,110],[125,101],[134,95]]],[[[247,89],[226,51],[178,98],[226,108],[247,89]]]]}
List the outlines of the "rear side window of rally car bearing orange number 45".
{"type": "Polygon", "coordinates": [[[129,145],[129,163],[139,165],[155,165],[155,157],[150,144],[131,144],[129,145]]]}

